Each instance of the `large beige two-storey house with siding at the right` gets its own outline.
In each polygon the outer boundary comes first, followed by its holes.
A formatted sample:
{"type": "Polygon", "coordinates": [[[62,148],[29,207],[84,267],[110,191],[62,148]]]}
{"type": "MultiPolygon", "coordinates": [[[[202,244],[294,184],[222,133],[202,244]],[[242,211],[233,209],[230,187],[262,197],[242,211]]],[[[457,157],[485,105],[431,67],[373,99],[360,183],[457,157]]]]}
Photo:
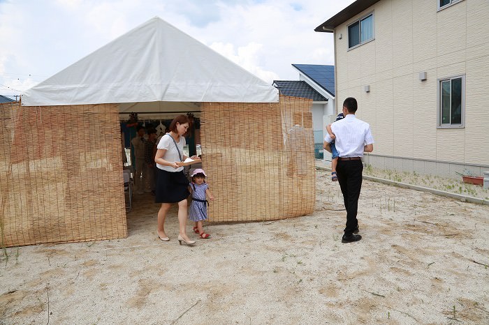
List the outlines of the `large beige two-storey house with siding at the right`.
{"type": "Polygon", "coordinates": [[[457,178],[489,170],[489,1],[358,0],[334,33],[337,111],[358,100],[384,169],[457,178]]]}

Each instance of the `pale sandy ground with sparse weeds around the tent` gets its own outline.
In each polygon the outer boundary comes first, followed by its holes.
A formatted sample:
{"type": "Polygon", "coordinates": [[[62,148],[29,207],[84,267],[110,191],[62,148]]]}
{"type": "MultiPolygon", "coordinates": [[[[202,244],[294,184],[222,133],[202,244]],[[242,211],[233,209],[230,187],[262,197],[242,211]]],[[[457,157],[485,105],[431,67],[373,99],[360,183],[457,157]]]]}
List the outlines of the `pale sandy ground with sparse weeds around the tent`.
{"type": "Polygon", "coordinates": [[[194,247],[175,209],[159,241],[141,195],[127,239],[8,248],[0,324],[489,324],[489,206],[364,181],[363,239],[342,244],[340,187],[316,189],[311,216],[207,225],[194,247]]]}

